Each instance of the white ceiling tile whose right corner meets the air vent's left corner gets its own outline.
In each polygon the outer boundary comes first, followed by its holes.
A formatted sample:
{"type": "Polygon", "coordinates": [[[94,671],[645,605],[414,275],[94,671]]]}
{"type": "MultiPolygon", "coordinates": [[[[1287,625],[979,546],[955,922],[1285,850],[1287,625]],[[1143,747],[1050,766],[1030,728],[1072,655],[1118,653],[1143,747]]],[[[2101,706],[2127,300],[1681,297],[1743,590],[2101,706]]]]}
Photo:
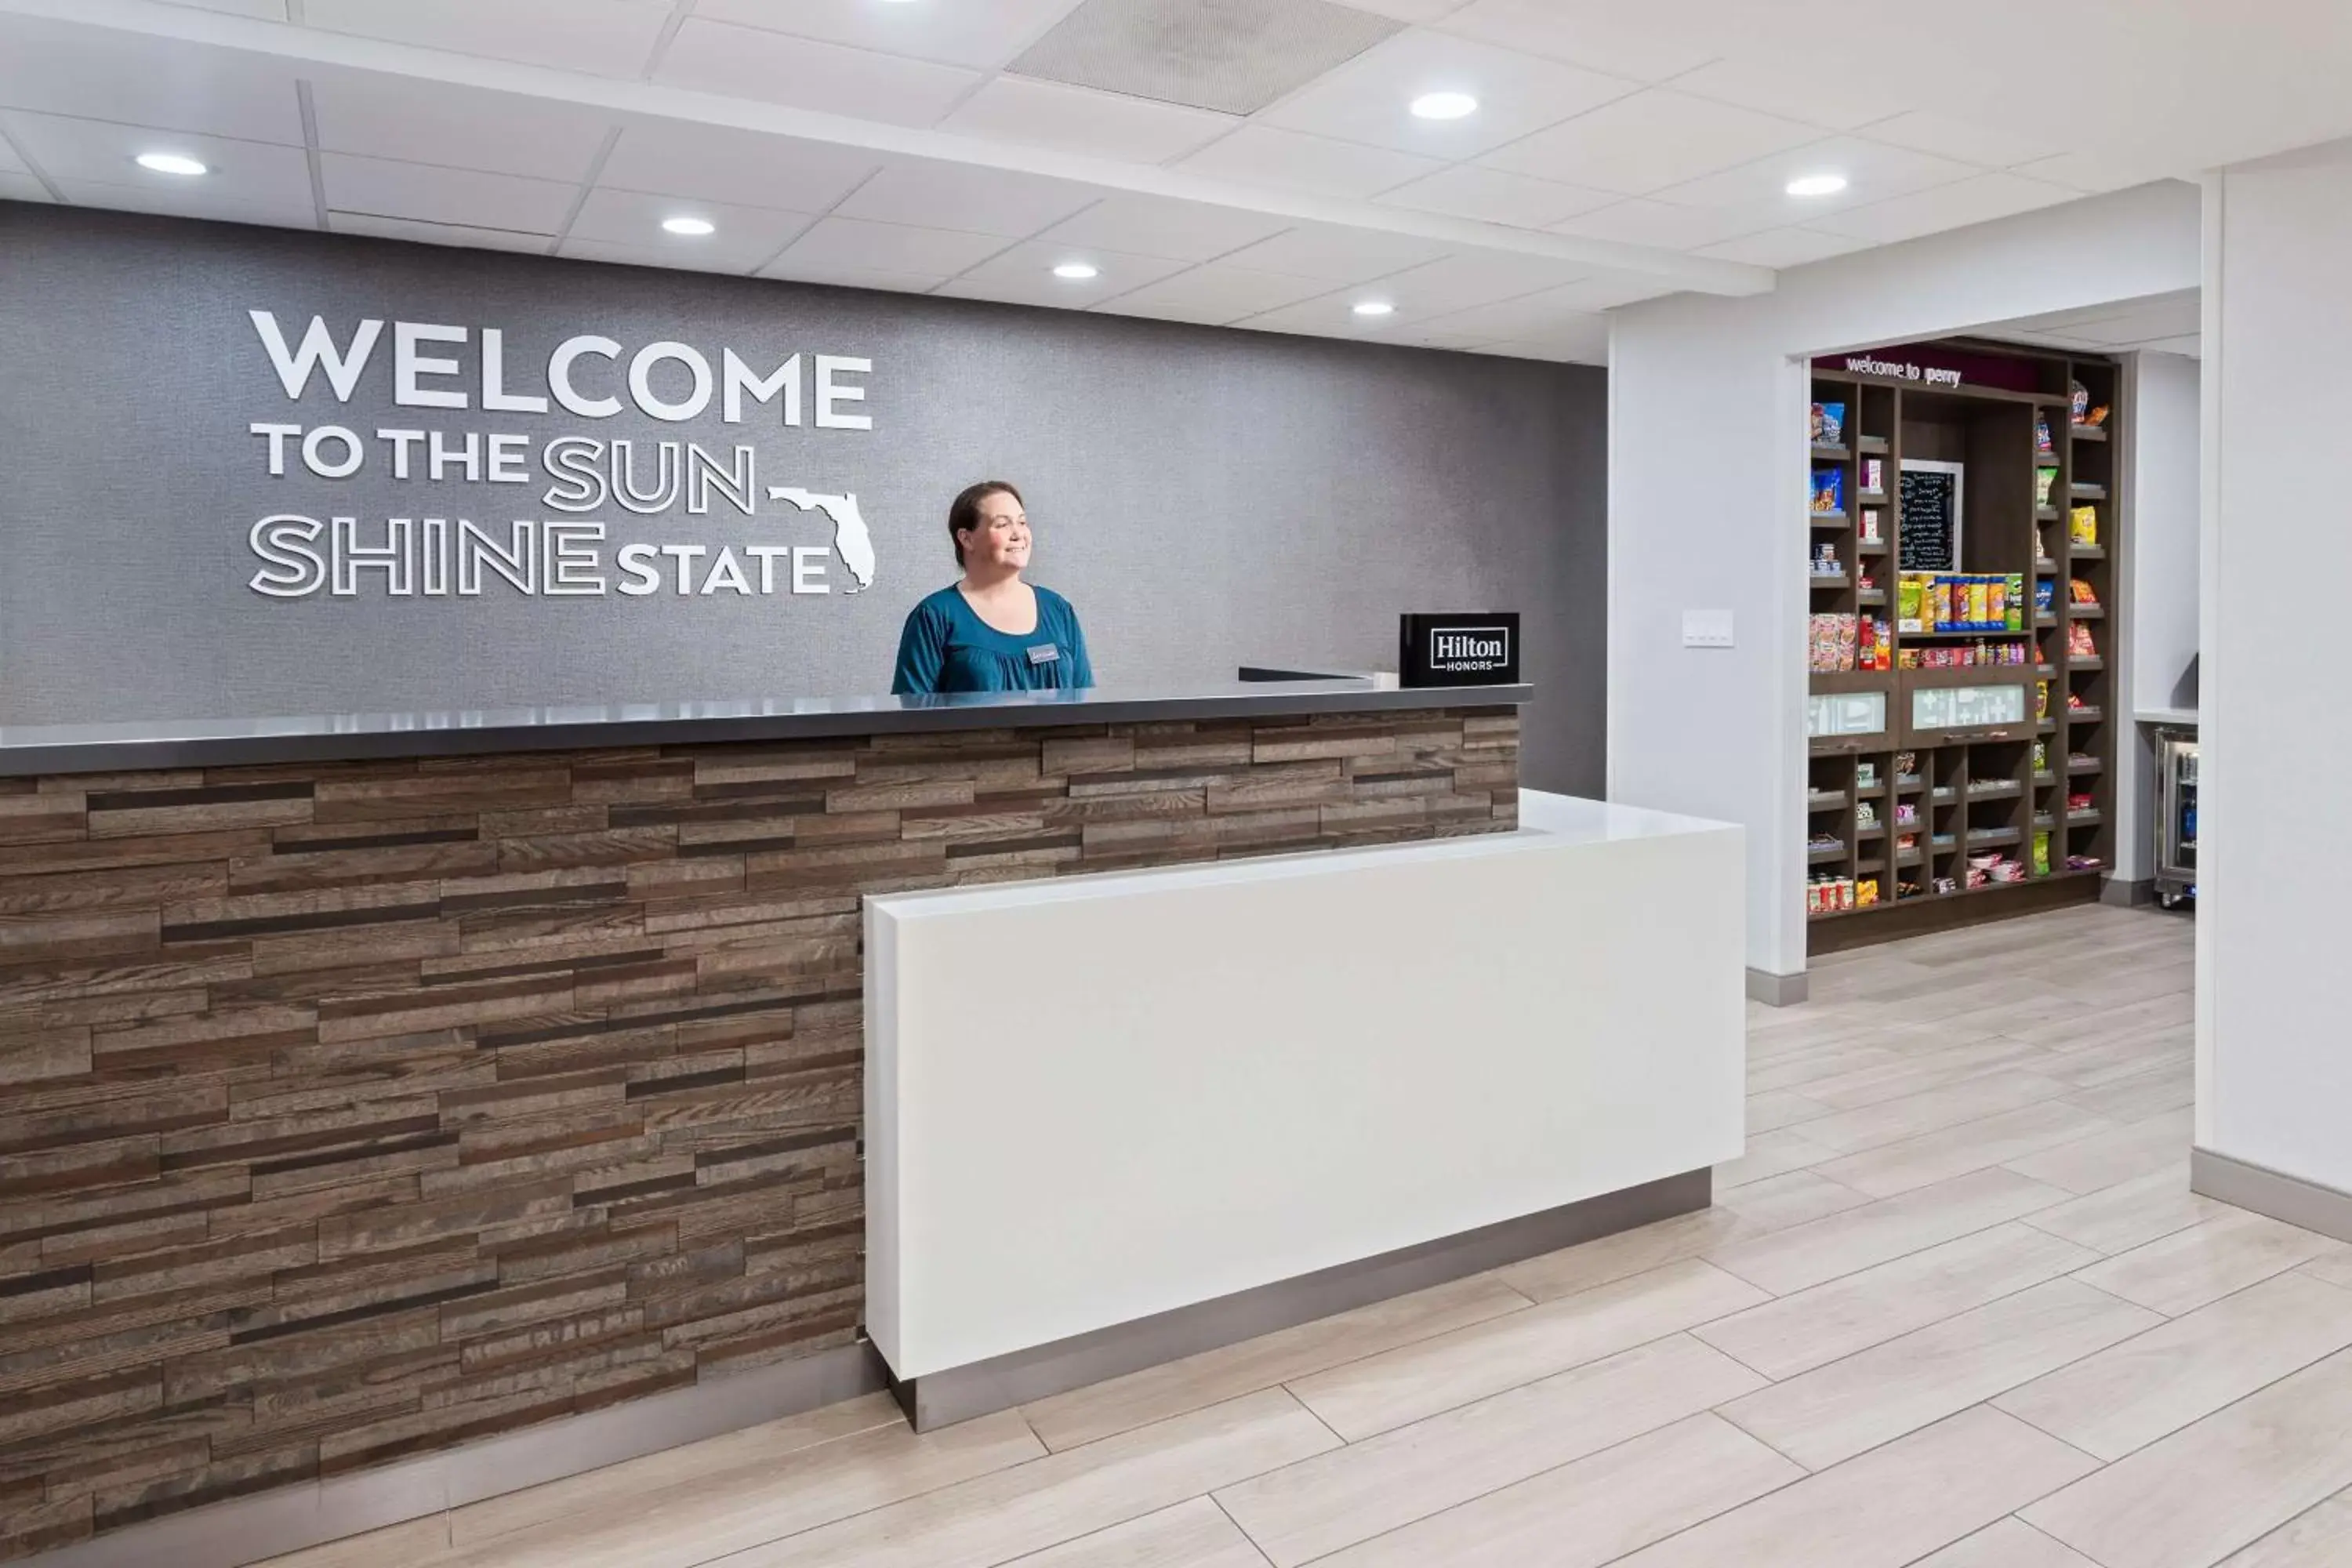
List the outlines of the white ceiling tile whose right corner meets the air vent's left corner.
{"type": "Polygon", "coordinates": [[[981,78],[960,66],[687,16],[654,80],[828,115],[927,127],[981,78]]]}

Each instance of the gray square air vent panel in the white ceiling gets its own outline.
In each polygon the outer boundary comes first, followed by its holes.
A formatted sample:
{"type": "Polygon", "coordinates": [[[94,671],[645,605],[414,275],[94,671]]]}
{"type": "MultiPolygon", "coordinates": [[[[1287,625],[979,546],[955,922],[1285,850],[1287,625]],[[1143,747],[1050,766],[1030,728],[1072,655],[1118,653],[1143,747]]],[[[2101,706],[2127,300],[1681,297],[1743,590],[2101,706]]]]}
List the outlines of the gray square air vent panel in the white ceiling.
{"type": "Polygon", "coordinates": [[[1009,71],[1249,115],[1402,26],[1331,0],[1087,0],[1009,71]]]}

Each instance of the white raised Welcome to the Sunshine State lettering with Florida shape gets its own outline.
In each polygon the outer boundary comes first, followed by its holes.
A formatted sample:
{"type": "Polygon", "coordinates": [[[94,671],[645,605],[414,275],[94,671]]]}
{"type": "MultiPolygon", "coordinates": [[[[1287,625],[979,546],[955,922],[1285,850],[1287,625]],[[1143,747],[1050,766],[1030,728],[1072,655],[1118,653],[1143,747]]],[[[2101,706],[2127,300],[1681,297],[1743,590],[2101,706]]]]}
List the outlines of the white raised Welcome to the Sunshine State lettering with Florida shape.
{"type": "Polygon", "coordinates": [[[661,423],[706,418],[715,407],[727,425],[800,428],[809,416],[818,430],[873,430],[873,416],[858,411],[866,402],[861,376],[873,374],[873,360],[795,353],[760,367],[734,348],[722,348],[713,362],[689,343],[630,350],[607,336],[576,334],[560,341],[536,374],[510,378],[496,327],[395,320],[386,346],[383,320],[365,317],[336,339],[325,317],[313,315],[301,341],[289,343],[273,313],[247,315],[287,402],[348,404],[374,364],[393,381],[393,407],[428,411],[414,425],[369,430],[256,418],[249,425],[254,454],[273,480],[374,473],[395,484],[480,491],[477,517],[270,512],[247,531],[256,559],[249,588],[259,595],[823,595],[835,590],[835,567],[847,576],[842,592],[875,581],[873,534],[854,491],[767,473],[757,442],[717,449],[691,440],[593,435],[595,421],[623,407],[661,423]],[[473,348],[470,376],[449,357],[466,346],[473,348]],[[536,505],[529,510],[553,517],[513,517],[524,510],[515,498],[532,491],[536,505]],[[699,538],[673,534],[680,517],[699,538]],[[694,522],[710,517],[746,524],[823,517],[833,543],[781,543],[760,527],[727,536],[694,522]]]}

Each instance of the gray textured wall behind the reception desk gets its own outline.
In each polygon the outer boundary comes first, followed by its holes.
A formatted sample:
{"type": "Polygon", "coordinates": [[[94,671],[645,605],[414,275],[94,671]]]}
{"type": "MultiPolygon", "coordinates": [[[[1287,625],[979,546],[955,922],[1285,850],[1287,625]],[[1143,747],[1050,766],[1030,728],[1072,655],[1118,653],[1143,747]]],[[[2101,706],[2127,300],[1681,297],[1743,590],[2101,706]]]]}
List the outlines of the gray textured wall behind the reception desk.
{"type": "MultiPolygon", "coordinates": [[[[1002,475],[1105,684],[1392,668],[1404,609],[1519,609],[1526,780],[1602,790],[1597,369],[12,202],[0,256],[0,722],[882,691],[906,609],[955,576],[948,496],[1002,475]],[[325,378],[294,404],[249,308],[339,341],[362,315],[501,327],[513,390],[546,390],[579,331],[755,369],[858,355],[875,428],[395,407],[390,324],[350,404],[325,378]],[[557,512],[536,463],[515,487],[393,482],[379,451],[350,480],[273,480],[252,421],[755,442],[762,482],[858,494],[880,571],[854,597],[266,599],[247,529],[268,512],[362,536],[557,512]]],[[[595,517],[614,543],[830,536],[811,515],[595,517]]]]}

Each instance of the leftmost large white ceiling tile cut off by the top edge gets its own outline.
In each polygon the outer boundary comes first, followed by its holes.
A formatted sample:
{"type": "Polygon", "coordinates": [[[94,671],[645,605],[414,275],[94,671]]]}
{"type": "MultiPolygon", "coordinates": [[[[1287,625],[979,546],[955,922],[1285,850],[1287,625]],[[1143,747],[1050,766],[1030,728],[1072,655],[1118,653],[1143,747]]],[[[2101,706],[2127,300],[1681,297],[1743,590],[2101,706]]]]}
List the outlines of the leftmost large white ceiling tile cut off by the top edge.
{"type": "Polygon", "coordinates": [[[303,0],[303,21],[454,54],[637,75],[670,19],[663,0],[303,0]]]}

